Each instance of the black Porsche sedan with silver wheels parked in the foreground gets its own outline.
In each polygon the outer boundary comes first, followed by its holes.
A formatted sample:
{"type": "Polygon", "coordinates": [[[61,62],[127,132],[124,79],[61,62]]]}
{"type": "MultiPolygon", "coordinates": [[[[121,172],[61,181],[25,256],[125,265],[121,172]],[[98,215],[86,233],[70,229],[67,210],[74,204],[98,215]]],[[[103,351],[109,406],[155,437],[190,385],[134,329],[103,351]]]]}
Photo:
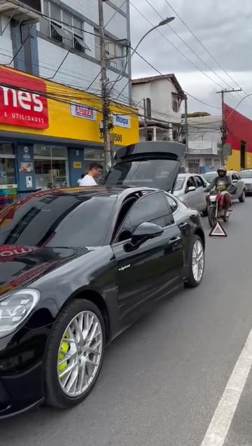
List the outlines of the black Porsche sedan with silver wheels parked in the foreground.
{"type": "Polygon", "coordinates": [[[148,187],[31,194],[0,213],[0,418],[80,403],[104,348],[204,271],[197,211],[148,187]]]}

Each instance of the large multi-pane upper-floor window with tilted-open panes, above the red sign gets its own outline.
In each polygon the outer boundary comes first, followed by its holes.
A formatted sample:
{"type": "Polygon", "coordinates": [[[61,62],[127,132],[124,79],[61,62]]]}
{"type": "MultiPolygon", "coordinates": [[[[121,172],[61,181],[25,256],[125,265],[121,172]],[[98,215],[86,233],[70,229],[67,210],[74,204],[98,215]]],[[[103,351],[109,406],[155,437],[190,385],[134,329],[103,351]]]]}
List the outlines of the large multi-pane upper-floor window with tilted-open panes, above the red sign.
{"type": "Polygon", "coordinates": [[[84,41],[83,22],[62,10],[51,1],[43,0],[43,13],[46,18],[39,22],[42,34],[49,36],[56,43],[73,48],[78,53],[89,50],[84,41]]]}

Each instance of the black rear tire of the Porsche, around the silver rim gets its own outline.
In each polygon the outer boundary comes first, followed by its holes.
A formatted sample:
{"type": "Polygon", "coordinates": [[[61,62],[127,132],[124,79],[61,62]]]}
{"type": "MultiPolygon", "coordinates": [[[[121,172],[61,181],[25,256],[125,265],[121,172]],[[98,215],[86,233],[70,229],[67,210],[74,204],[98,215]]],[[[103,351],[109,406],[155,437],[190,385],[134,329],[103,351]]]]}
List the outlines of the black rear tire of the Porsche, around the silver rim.
{"type": "MultiPolygon", "coordinates": [[[[199,252],[200,256],[200,252],[199,252]]],[[[189,265],[188,265],[188,277],[185,280],[186,288],[195,288],[200,285],[202,281],[204,273],[204,244],[199,235],[193,235],[192,242],[190,244],[190,253],[189,253],[189,265]],[[201,265],[201,274],[197,277],[195,274],[194,265],[195,265],[195,249],[196,251],[199,249],[202,250],[202,265],[201,265]]]]}

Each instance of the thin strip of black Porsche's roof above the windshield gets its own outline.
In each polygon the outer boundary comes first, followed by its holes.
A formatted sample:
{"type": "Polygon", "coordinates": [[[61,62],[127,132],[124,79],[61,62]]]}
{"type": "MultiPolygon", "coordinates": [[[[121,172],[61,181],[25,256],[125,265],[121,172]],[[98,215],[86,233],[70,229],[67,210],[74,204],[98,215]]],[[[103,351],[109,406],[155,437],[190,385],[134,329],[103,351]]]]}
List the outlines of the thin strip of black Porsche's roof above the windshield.
{"type": "MultiPolygon", "coordinates": [[[[155,192],[156,188],[147,187],[113,187],[113,186],[77,186],[73,188],[57,188],[41,190],[29,194],[29,197],[43,197],[44,195],[74,195],[76,197],[120,197],[127,196],[129,193],[141,192],[146,190],[155,192]]],[[[21,199],[22,200],[22,199],[21,199]]]]}

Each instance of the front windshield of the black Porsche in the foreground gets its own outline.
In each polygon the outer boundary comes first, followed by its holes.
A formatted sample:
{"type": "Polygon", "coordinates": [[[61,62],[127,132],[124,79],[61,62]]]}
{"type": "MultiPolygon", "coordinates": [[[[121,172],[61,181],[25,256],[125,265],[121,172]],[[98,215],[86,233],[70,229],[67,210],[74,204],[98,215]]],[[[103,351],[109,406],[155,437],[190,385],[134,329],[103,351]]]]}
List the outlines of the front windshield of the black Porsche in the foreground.
{"type": "Polygon", "coordinates": [[[28,195],[0,212],[0,244],[99,246],[115,201],[69,193],[28,195]]]}

